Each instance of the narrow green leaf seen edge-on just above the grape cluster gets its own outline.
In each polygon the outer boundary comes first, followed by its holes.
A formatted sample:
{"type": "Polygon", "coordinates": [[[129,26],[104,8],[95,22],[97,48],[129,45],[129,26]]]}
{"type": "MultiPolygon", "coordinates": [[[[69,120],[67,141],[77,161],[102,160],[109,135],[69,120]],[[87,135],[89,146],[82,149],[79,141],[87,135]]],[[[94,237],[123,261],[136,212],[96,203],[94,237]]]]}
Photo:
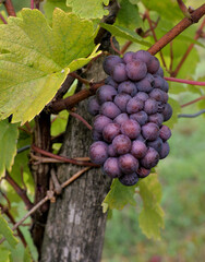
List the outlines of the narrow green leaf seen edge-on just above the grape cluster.
{"type": "Polygon", "coordinates": [[[143,38],[141,36],[138,36],[135,32],[133,32],[131,29],[123,28],[119,25],[117,26],[117,25],[110,25],[110,24],[105,24],[105,23],[101,23],[100,26],[102,28],[109,31],[113,36],[119,36],[119,37],[125,38],[128,40],[150,47],[150,44],[148,41],[143,40],[143,38]]]}

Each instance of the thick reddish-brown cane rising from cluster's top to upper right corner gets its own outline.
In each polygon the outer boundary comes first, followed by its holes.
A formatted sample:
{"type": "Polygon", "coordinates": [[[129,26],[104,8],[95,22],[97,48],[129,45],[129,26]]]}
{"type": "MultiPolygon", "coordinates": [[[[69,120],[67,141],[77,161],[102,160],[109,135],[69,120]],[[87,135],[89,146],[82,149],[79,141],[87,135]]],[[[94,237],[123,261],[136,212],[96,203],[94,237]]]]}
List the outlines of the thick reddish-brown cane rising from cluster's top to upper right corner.
{"type": "Polygon", "coordinates": [[[184,17],[182,19],[171,31],[169,31],[166,35],[164,35],[155,45],[153,45],[148,51],[150,55],[156,55],[159,50],[161,50],[167,44],[173,40],[179,34],[181,34],[184,29],[186,29],[193,23],[197,23],[198,20],[205,14],[205,3],[202,4],[198,9],[196,9],[192,13],[192,20],[184,17]]]}

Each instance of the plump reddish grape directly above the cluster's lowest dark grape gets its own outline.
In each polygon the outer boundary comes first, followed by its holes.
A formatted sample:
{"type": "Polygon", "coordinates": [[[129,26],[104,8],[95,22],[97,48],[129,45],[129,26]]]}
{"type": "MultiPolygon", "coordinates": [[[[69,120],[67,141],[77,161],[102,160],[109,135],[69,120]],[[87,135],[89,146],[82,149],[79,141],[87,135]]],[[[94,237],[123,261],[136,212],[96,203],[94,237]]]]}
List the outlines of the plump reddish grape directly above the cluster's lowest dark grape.
{"type": "Polygon", "coordinates": [[[138,169],[138,160],[131,154],[121,155],[119,167],[123,174],[132,174],[138,169]]]}

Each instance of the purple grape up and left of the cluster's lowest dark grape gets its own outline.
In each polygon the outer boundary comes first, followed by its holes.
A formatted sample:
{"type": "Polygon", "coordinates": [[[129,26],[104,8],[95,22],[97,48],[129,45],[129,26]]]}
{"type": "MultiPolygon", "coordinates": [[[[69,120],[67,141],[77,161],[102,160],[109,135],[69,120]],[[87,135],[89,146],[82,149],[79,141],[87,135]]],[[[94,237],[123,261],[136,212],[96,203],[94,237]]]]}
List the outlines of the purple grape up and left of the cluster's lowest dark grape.
{"type": "Polygon", "coordinates": [[[109,157],[104,163],[104,172],[111,178],[117,178],[117,177],[122,176],[122,171],[119,167],[118,157],[109,157]]]}

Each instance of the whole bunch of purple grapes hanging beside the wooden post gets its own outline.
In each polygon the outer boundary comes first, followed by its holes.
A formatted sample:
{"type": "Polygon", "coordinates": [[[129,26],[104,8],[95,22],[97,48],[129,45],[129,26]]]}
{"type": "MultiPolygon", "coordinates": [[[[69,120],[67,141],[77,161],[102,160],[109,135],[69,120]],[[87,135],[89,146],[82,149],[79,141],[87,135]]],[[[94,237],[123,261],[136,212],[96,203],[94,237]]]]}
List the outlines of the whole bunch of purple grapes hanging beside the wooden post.
{"type": "Polygon", "coordinates": [[[145,50],[109,56],[109,76],[88,103],[95,116],[89,157],[104,174],[133,186],[169,154],[168,83],[157,58],[145,50]]]}

